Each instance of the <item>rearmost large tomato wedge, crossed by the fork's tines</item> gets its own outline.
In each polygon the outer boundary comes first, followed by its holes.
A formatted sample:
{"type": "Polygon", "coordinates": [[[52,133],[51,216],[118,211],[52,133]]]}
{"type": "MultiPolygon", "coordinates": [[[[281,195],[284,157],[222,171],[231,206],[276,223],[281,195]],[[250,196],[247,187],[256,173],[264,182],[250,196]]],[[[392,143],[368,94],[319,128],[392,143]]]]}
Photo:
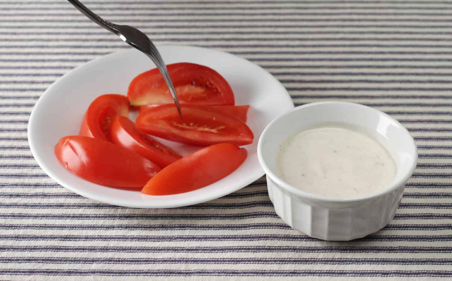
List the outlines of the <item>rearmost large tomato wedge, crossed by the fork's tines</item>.
{"type": "MultiPolygon", "coordinates": [[[[217,71],[194,63],[166,66],[180,103],[199,105],[234,105],[231,86],[217,71]]],[[[133,106],[173,103],[170,89],[157,68],[135,77],[127,97],[133,106]]]]}

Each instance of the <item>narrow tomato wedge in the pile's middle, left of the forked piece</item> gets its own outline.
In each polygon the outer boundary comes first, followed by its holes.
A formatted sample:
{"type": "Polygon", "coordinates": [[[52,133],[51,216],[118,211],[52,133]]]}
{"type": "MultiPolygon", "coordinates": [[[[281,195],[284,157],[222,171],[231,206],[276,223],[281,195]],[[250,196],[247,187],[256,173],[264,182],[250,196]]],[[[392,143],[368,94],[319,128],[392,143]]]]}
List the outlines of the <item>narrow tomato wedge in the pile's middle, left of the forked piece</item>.
{"type": "Polygon", "coordinates": [[[138,131],[135,123],[127,117],[116,117],[111,130],[114,144],[134,151],[155,163],[160,168],[165,168],[177,159],[182,158],[182,156],[174,152],[170,147],[138,131]]]}

